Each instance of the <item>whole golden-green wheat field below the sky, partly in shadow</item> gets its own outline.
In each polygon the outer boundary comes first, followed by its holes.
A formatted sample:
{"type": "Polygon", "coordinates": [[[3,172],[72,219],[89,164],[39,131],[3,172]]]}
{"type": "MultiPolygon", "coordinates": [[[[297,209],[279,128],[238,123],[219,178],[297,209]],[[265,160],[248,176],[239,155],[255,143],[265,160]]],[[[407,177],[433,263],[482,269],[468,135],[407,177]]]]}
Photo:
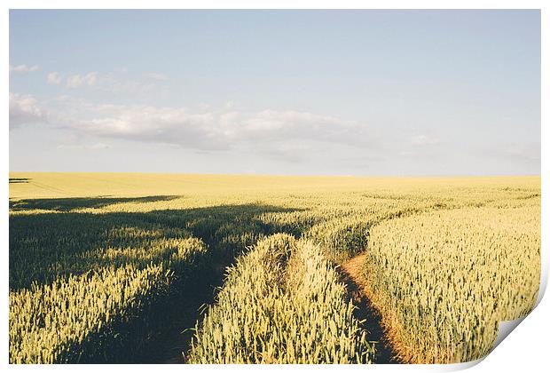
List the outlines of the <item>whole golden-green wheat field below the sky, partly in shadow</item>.
{"type": "Polygon", "coordinates": [[[540,178],[10,173],[12,363],[471,361],[540,278],[540,178]],[[370,317],[367,315],[367,318],[370,317]],[[171,348],[171,347],[170,347],[171,348]]]}

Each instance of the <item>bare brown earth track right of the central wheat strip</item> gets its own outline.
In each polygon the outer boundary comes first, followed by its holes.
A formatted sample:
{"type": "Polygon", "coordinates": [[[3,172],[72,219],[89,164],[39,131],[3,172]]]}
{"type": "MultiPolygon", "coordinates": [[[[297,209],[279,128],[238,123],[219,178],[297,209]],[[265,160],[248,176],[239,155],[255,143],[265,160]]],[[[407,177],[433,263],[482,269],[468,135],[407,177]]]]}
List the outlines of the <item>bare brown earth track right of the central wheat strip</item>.
{"type": "Polygon", "coordinates": [[[350,297],[358,309],[356,317],[358,320],[366,320],[363,328],[367,333],[367,340],[376,343],[376,354],[374,363],[376,364],[397,364],[399,361],[396,358],[396,353],[389,345],[384,329],[381,327],[381,314],[373,308],[369,298],[365,296],[366,279],[363,271],[366,254],[358,255],[343,263],[339,267],[339,272],[342,275],[342,281],[348,287],[350,297]]]}

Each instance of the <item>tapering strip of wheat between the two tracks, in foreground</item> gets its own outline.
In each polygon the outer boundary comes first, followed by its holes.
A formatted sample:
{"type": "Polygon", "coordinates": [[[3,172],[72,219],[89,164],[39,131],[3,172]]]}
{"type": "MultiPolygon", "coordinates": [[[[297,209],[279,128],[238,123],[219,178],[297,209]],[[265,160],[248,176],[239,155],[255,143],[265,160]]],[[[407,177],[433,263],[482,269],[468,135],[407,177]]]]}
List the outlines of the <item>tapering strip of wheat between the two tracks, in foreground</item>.
{"type": "Polygon", "coordinates": [[[230,268],[190,362],[369,362],[373,347],[322,250],[276,234],[230,268]]]}

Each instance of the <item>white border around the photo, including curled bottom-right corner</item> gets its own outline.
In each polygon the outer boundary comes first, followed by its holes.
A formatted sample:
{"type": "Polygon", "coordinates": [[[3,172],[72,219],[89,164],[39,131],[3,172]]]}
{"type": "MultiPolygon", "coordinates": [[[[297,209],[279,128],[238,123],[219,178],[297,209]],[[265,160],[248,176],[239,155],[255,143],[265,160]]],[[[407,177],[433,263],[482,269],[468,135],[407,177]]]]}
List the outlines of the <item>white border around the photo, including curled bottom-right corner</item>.
{"type": "MultiPolygon", "coordinates": [[[[9,108],[7,106],[9,102],[8,91],[5,87],[9,87],[9,9],[540,9],[541,10],[541,176],[550,175],[550,169],[548,166],[548,149],[545,147],[550,136],[550,131],[546,128],[548,110],[548,86],[549,75],[546,73],[547,66],[550,66],[550,60],[548,59],[548,40],[549,40],[549,21],[550,5],[544,0],[318,0],[316,2],[307,2],[306,0],[263,0],[261,3],[252,0],[203,0],[203,1],[171,1],[171,0],[135,0],[132,2],[124,3],[118,0],[80,0],[78,2],[69,0],[50,0],[48,2],[39,0],[5,0],[2,7],[4,8],[0,15],[0,36],[2,41],[2,86],[4,91],[2,92],[2,102],[0,110],[2,117],[4,118],[4,136],[0,141],[2,146],[0,152],[3,154],[3,163],[1,165],[4,175],[9,173],[9,108]],[[546,68],[545,68],[546,66],[546,68]],[[546,124],[546,126],[545,126],[546,124]]],[[[504,370],[504,371],[517,371],[518,369],[527,369],[527,371],[542,371],[543,367],[547,369],[547,352],[546,344],[549,336],[548,317],[550,314],[550,306],[548,300],[542,298],[546,291],[547,284],[547,269],[548,269],[548,199],[546,193],[548,192],[548,184],[546,178],[542,177],[542,276],[541,276],[541,288],[538,301],[540,302],[537,308],[530,313],[530,315],[515,329],[511,337],[507,337],[492,353],[490,353],[483,363],[475,365],[470,371],[485,371],[485,370],[504,370]],[[481,369],[481,370],[480,370],[481,369]]],[[[2,347],[3,351],[2,361],[5,365],[8,365],[8,200],[9,200],[9,186],[8,183],[0,182],[0,188],[2,192],[2,206],[4,206],[4,214],[2,215],[2,227],[0,229],[2,242],[2,258],[4,263],[4,278],[3,278],[3,294],[1,302],[2,308],[0,308],[0,314],[2,315],[2,347]]],[[[547,298],[547,297],[546,297],[547,298]]],[[[475,361],[479,362],[479,361],[475,361]]],[[[272,371],[274,369],[285,369],[297,371],[309,370],[309,371],[326,371],[327,369],[342,369],[342,370],[356,370],[358,369],[375,369],[377,371],[426,371],[426,370],[455,370],[464,369],[472,366],[472,363],[455,364],[455,365],[377,365],[371,367],[365,367],[362,365],[354,366],[333,366],[333,365],[315,365],[315,366],[193,366],[193,365],[167,365],[159,369],[162,371],[180,371],[185,369],[187,371],[215,371],[222,369],[225,371],[232,370],[262,370],[272,371]]],[[[32,366],[32,365],[10,365],[10,370],[27,370],[27,369],[40,369],[40,370],[66,370],[75,369],[75,365],[70,366],[32,366]]],[[[97,367],[92,365],[78,366],[82,371],[95,371],[97,367]]],[[[102,369],[107,370],[123,370],[132,372],[145,372],[151,369],[146,365],[104,365],[102,369]]]]}

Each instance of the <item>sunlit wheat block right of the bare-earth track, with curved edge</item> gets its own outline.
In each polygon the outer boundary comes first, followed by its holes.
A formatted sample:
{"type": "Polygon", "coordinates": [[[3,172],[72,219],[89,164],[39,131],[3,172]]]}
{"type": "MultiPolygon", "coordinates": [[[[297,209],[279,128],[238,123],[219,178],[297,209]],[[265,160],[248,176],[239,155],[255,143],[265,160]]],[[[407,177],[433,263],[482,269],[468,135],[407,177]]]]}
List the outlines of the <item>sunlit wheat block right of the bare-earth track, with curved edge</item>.
{"type": "Polygon", "coordinates": [[[475,360],[490,352],[499,321],[535,305],[540,207],[384,222],[371,231],[365,275],[404,360],[475,360]]]}

